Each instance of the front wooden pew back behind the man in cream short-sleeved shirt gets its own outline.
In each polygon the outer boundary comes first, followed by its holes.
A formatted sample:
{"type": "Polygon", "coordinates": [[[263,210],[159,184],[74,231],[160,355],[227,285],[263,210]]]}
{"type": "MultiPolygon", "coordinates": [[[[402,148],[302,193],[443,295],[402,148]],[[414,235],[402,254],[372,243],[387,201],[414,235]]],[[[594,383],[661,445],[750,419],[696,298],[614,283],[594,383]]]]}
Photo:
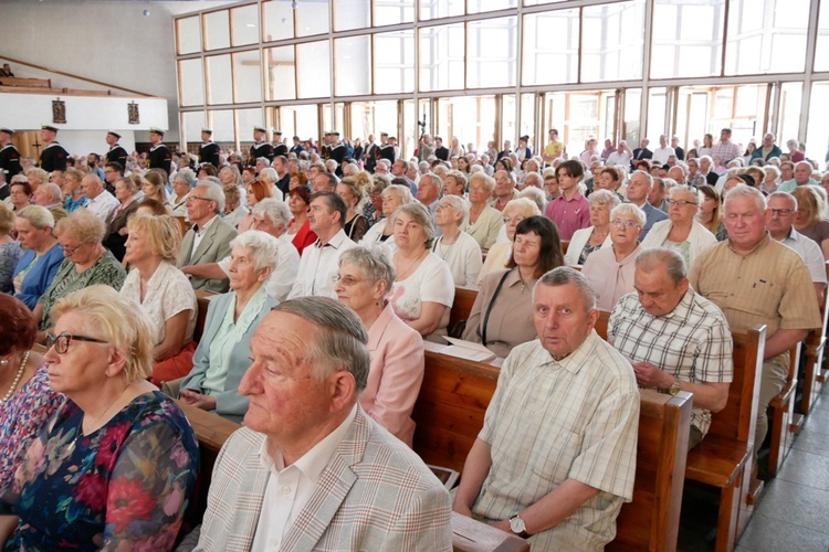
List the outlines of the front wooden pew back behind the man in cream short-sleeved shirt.
{"type": "MultiPolygon", "coordinates": [[[[439,352],[429,343],[412,412],[414,450],[428,463],[462,470],[500,369],[439,352]]],[[[633,502],[622,506],[609,550],[675,550],[691,424],[691,395],[643,391],[633,502]]]]}

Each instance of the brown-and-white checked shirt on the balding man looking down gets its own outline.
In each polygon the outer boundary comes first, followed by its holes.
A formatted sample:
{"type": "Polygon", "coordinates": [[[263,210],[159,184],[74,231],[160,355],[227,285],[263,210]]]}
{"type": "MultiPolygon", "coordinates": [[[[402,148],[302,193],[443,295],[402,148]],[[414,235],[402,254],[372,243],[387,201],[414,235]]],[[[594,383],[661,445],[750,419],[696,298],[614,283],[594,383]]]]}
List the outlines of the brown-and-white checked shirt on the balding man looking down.
{"type": "MultiPolygon", "coordinates": [[[[610,315],[608,341],[632,362],[650,362],[689,382],[731,383],[734,362],[728,322],[720,308],[693,289],[667,315],[646,312],[636,293],[622,297],[610,315]]],[[[694,405],[691,425],[705,435],[711,411],[694,405]]]]}

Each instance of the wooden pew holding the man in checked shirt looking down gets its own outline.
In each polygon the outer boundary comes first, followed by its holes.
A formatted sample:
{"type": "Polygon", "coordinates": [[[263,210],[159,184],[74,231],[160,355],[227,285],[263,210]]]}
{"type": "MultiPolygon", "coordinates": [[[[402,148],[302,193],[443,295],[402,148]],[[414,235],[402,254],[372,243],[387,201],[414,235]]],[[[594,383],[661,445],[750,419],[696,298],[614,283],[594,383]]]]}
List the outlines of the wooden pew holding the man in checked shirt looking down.
{"type": "MultiPolygon", "coordinates": [[[[609,314],[602,312],[596,331],[607,339],[609,314]]],[[[734,549],[754,512],[762,485],[752,480],[754,431],[759,397],[766,327],[734,335],[734,379],[725,408],[712,414],[703,442],[688,454],[685,478],[720,488],[716,550],[734,549]]]]}

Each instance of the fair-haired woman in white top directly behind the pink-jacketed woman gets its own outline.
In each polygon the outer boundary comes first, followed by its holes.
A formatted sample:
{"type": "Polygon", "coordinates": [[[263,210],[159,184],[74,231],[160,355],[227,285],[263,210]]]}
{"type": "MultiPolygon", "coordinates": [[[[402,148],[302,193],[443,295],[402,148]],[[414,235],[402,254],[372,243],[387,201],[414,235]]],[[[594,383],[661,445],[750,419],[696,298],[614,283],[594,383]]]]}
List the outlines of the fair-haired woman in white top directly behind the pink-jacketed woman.
{"type": "Polygon", "coordinates": [[[392,224],[397,279],[389,302],[403,322],[439,341],[447,335],[454,283],[449,265],[429,251],[434,240],[432,219],[423,205],[410,203],[395,212],[392,224]]]}

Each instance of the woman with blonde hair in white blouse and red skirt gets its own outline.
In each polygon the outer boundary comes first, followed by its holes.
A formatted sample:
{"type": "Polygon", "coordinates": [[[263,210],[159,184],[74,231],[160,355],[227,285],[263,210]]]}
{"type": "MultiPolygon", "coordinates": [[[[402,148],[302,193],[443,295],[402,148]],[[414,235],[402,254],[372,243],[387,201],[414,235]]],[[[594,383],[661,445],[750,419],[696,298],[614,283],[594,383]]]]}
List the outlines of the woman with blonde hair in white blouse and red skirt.
{"type": "Polygon", "coordinates": [[[171,216],[136,214],[127,222],[129,235],[124,261],[133,266],[120,295],[135,300],[156,328],[156,385],[187,374],[196,343],[196,294],[190,280],[176,268],[181,231],[171,216]]]}

